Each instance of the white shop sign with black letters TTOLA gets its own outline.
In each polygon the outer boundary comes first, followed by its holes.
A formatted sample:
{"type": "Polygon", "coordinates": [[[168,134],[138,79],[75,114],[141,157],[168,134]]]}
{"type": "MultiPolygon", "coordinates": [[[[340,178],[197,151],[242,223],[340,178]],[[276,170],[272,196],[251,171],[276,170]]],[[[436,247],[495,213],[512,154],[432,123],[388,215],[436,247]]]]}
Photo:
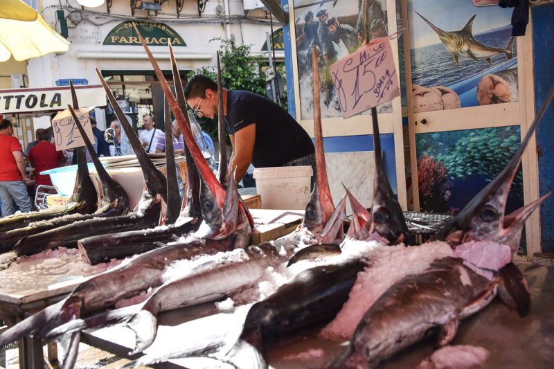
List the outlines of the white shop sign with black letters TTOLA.
{"type": "MultiPolygon", "coordinates": [[[[102,107],[106,94],[100,85],[75,87],[79,105],[102,107]]],[[[69,87],[0,90],[0,114],[67,109],[72,105],[69,87]]]]}

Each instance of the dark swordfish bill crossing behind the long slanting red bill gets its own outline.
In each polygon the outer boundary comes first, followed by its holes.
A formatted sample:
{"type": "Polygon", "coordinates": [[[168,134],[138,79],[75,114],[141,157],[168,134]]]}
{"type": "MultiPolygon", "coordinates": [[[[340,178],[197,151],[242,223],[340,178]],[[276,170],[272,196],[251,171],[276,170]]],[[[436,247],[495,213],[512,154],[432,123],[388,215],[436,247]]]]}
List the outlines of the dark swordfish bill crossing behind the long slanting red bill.
{"type": "MultiPolygon", "coordinates": [[[[175,61],[175,55],[171,53],[171,68],[173,71],[173,84],[175,87],[175,96],[177,96],[177,103],[181,108],[181,111],[185,113],[188,111],[186,107],[185,94],[183,92],[183,84],[181,83],[181,75],[179,68],[177,68],[177,62],[175,61]]],[[[188,114],[184,114],[186,124],[190,127],[190,120],[188,114]]],[[[200,208],[200,177],[198,168],[193,156],[190,155],[190,149],[188,145],[185,145],[185,159],[186,159],[186,188],[185,198],[183,201],[183,207],[181,209],[181,217],[179,222],[193,222],[200,223],[198,219],[202,219],[202,209],[200,208]],[[188,219],[192,218],[192,220],[188,219]]]]}

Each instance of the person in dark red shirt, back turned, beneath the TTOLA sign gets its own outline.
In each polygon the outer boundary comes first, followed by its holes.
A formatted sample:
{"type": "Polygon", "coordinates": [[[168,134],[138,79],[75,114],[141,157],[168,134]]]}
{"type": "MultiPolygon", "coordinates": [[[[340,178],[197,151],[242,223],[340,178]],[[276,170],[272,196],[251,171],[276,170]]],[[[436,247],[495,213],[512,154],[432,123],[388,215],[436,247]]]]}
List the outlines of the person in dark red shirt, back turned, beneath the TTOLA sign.
{"type": "Polygon", "coordinates": [[[46,129],[37,129],[37,145],[29,150],[29,163],[35,168],[35,190],[40,185],[53,186],[50,174],[40,174],[44,170],[60,167],[64,160],[64,153],[56,151],[55,145],[50,143],[50,134],[46,129]]]}

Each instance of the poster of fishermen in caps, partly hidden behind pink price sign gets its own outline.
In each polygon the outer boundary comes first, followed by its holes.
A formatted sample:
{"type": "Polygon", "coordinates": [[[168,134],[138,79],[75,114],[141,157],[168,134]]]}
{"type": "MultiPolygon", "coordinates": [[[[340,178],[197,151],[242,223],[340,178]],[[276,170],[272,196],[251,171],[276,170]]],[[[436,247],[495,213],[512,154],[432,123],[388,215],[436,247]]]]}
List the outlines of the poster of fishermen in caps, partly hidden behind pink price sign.
{"type": "MultiPolygon", "coordinates": [[[[312,46],[319,54],[321,118],[342,116],[329,67],[365,45],[364,0],[295,0],[296,50],[300,85],[301,118],[312,119],[312,46]]],[[[388,35],[386,0],[369,0],[369,39],[388,35]]],[[[392,111],[391,102],[377,107],[379,113],[392,111]]],[[[370,114],[366,111],[362,114],[370,114]]]]}

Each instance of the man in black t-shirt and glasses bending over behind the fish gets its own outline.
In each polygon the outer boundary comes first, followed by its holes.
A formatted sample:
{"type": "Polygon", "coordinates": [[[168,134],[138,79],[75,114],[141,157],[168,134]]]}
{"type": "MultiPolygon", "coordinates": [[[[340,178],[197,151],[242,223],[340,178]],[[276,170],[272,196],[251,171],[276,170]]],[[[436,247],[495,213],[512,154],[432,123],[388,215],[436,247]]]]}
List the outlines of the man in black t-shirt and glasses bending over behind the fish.
{"type": "MultiPolygon", "coordinates": [[[[247,91],[223,89],[225,128],[231,138],[230,170],[240,181],[252,163],[256,168],[312,165],[315,178],[315,148],[312,139],[285,109],[247,91]]],[[[188,105],[198,116],[217,116],[217,84],[197,75],[184,90],[188,105]]]]}

